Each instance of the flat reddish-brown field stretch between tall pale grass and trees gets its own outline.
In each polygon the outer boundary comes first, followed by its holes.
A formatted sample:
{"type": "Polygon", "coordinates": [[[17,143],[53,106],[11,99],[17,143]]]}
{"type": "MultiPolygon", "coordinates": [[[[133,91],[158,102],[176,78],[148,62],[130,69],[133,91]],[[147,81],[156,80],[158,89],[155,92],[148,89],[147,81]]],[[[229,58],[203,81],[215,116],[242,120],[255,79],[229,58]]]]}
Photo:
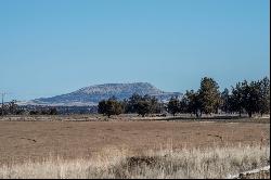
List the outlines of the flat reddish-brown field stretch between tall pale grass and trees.
{"type": "Polygon", "coordinates": [[[0,165],[76,158],[115,146],[149,149],[270,142],[270,124],[208,121],[0,121],[0,165]]]}

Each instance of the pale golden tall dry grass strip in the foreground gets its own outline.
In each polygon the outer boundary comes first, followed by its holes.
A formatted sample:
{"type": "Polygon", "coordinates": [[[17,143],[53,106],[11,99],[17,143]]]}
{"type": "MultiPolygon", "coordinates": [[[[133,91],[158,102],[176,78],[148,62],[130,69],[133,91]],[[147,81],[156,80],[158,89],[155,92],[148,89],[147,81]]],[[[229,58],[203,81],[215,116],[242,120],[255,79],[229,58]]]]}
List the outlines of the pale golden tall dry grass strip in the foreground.
{"type": "Polygon", "coordinates": [[[130,152],[107,147],[90,159],[47,157],[0,167],[0,178],[228,178],[269,165],[270,147],[235,146],[130,152]]]}

